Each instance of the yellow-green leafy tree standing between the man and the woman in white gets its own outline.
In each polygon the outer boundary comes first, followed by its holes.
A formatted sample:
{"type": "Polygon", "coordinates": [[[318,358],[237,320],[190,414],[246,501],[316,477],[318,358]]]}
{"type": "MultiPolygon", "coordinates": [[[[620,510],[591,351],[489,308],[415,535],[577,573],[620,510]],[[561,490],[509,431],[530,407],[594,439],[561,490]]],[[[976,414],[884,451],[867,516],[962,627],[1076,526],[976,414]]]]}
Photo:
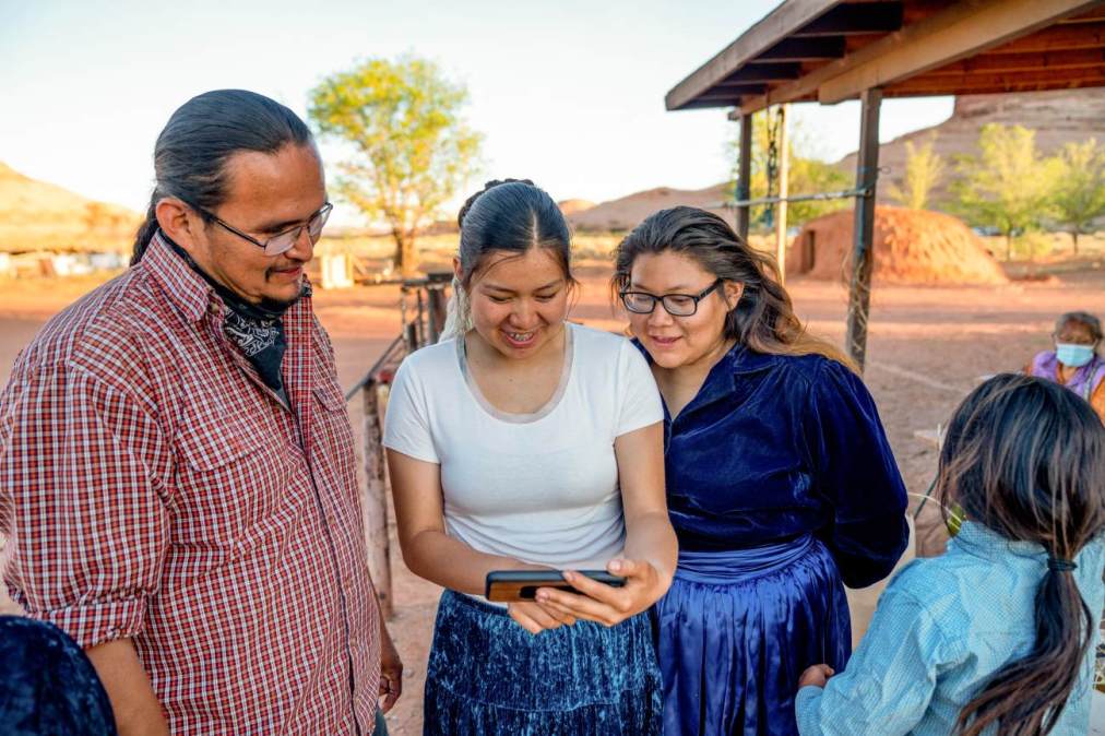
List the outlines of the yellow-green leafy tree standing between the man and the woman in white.
{"type": "Polygon", "coordinates": [[[482,136],[461,117],[466,102],[463,85],[414,56],[369,59],[309,93],[318,133],[352,151],[338,164],[338,193],[387,222],[403,275],[418,266],[419,232],[476,167],[482,136]]]}

